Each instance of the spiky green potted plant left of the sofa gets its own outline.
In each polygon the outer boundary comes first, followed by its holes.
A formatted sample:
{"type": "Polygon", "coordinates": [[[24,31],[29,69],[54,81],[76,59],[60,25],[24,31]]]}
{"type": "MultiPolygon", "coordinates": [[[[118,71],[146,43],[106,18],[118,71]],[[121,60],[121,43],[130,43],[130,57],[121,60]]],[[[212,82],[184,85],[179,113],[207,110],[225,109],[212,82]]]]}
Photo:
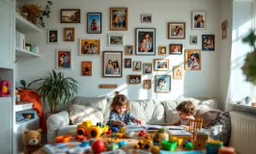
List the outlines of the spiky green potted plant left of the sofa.
{"type": "Polygon", "coordinates": [[[77,93],[77,82],[71,77],[65,77],[63,72],[54,69],[47,72],[47,76],[33,81],[31,84],[43,82],[37,90],[42,97],[43,105],[48,105],[50,116],[60,111],[60,107],[69,102],[77,93]]]}

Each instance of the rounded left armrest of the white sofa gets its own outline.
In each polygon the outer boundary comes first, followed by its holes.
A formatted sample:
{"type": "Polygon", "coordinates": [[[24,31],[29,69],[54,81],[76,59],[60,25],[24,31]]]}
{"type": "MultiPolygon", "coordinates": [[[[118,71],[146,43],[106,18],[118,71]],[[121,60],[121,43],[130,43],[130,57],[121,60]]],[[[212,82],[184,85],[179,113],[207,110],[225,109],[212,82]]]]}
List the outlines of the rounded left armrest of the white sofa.
{"type": "Polygon", "coordinates": [[[63,111],[61,113],[49,116],[46,121],[48,143],[55,142],[57,130],[61,127],[67,127],[69,123],[70,118],[67,111],[63,111]]]}

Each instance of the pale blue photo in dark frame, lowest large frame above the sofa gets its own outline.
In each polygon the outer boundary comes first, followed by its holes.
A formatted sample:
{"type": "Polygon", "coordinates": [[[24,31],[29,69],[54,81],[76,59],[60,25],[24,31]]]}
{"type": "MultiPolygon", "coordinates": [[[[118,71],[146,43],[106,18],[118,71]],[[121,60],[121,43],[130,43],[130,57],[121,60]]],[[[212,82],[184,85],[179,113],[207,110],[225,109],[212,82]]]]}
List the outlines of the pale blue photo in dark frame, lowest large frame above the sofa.
{"type": "Polygon", "coordinates": [[[156,92],[170,92],[171,82],[171,75],[156,75],[156,92]]]}

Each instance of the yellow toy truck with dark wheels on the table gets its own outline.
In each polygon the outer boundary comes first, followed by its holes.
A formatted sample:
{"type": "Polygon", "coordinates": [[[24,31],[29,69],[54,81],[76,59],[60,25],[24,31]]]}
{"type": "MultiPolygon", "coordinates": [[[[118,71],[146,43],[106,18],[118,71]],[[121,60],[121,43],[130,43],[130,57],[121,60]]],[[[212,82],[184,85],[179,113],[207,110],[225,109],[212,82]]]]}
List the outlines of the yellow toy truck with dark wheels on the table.
{"type": "Polygon", "coordinates": [[[76,136],[88,136],[88,138],[99,138],[101,134],[108,131],[108,126],[98,122],[96,126],[92,121],[84,121],[77,126],[76,136]]]}

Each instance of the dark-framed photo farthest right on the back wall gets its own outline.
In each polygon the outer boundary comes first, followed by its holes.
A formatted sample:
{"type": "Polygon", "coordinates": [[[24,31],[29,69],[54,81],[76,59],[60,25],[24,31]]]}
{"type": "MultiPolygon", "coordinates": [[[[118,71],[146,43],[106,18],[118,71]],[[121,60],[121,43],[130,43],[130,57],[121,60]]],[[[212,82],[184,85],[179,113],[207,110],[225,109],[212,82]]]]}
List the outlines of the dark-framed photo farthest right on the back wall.
{"type": "Polygon", "coordinates": [[[203,35],[202,36],[202,50],[203,51],[214,51],[214,35],[203,35]]]}

